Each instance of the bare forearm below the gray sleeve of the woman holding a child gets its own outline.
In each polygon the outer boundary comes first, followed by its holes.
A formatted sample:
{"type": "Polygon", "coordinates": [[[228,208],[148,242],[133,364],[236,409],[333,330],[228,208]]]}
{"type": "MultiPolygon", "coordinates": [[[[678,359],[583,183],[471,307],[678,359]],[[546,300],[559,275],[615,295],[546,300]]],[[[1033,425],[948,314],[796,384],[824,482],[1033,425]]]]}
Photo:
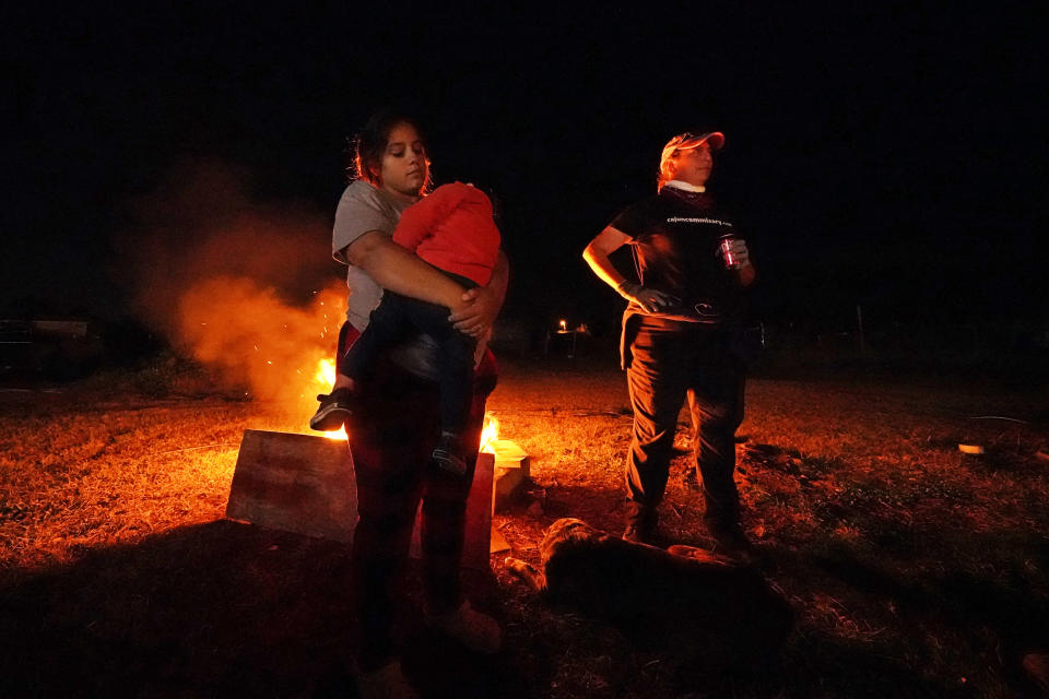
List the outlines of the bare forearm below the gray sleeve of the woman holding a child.
{"type": "Polygon", "coordinates": [[[447,306],[452,311],[467,306],[461,285],[378,230],[365,233],[341,252],[350,264],[364,270],[382,288],[447,306]]]}

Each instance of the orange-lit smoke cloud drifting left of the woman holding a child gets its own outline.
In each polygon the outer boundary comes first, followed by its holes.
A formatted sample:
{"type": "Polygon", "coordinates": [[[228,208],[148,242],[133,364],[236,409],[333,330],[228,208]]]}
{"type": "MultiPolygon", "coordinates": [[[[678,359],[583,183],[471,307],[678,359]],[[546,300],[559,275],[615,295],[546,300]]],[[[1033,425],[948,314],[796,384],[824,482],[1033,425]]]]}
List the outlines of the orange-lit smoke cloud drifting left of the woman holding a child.
{"type": "Polygon", "coordinates": [[[269,401],[314,401],[344,318],[330,214],[259,201],[245,170],[184,162],[133,202],[120,240],[134,307],[229,386],[269,401]]]}

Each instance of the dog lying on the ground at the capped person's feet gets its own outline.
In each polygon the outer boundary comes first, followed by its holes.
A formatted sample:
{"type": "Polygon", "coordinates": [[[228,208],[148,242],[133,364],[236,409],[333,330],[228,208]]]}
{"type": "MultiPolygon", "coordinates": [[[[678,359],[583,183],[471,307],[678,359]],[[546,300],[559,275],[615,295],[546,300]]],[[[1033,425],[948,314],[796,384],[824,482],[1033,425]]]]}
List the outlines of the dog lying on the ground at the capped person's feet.
{"type": "Polygon", "coordinates": [[[561,519],[540,554],[543,572],[515,558],[506,564],[551,603],[711,662],[771,654],[793,626],[786,600],[754,568],[703,548],[663,550],[561,519]]]}

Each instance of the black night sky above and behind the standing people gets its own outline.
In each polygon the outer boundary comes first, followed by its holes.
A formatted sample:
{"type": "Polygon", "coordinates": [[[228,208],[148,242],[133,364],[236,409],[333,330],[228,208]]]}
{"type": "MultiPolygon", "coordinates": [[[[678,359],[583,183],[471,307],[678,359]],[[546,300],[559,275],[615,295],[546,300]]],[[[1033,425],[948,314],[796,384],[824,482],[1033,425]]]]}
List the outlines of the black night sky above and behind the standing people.
{"type": "Polygon", "coordinates": [[[612,318],[584,246],[671,135],[716,128],[766,322],[1049,324],[1046,23],[1022,4],[94,4],[7,12],[9,313],[127,312],[141,202],[200,163],[320,221],[300,262],[340,276],[347,139],[399,104],[438,183],[502,200],[508,318],[612,318]]]}

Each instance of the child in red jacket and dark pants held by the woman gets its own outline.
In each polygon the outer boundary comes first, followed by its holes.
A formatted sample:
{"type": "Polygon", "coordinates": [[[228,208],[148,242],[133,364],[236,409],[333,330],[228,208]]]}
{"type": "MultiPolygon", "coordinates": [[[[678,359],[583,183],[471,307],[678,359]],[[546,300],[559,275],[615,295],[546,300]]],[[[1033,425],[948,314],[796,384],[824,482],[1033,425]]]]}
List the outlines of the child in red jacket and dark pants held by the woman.
{"type": "MultiPolygon", "coordinates": [[[[455,182],[404,210],[393,230],[393,241],[415,252],[467,288],[484,286],[499,251],[499,229],[492,202],[480,189],[455,182]]],[[[372,320],[339,360],[339,374],[352,380],[349,388],[318,396],[320,407],[310,427],[339,429],[353,413],[355,390],[378,354],[412,332],[429,335],[438,347],[440,389],[440,443],[434,449],[437,464],[452,473],[467,470],[460,443],[473,398],[473,358],[476,341],[452,328],[448,308],[385,292],[372,320]]]]}

